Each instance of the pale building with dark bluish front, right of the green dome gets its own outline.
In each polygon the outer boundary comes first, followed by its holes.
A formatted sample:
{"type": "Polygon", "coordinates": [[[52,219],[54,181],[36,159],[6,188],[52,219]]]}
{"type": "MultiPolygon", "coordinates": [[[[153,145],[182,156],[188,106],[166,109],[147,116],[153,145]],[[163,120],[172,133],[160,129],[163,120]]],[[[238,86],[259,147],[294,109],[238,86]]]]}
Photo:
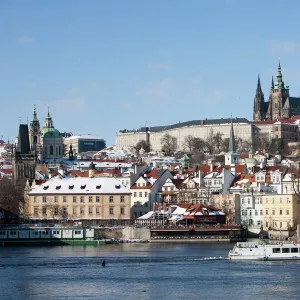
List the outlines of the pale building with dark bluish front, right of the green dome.
{"type": "Polygon", "coordinates": [[[105,140],[93,134],[79,134],[64,139],[64,153],[68,153],[70,145],[74,154],[88,151],[100,151],[106,147],[105,140]]]}

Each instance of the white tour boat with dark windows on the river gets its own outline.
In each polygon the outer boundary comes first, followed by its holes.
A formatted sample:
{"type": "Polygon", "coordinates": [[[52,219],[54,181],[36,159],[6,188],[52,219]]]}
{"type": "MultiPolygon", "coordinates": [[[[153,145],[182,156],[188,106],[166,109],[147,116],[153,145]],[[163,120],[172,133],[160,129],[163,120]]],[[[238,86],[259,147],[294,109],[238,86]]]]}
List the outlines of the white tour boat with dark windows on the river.
{"type": "Polygon", "coordinates": [[[300,244],[237,243],[228,256],[232,260],[296,260],[300,259],[300,244]]]}

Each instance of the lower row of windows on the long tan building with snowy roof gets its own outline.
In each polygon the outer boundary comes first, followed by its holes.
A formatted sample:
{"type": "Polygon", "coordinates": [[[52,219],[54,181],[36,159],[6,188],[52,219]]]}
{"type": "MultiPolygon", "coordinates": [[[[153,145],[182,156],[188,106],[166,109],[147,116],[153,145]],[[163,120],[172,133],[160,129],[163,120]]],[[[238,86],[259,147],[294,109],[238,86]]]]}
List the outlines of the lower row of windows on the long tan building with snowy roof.
{"type": "MultiPolygon", "coordinates": [[[[96,212],[96,214],[100,214],[101,213],[101,207],[89,207],[88,208],[88,213],[90,215],[92,215],[94,213],[94,210],[96,212]]],[[[109,214],[110,215],[113,215],[114,214],[114,207],[109,207],[109,214]]],[[[53,214],[54,216],[58,216],[60,213],[62,213],[62,215],[66,216],[68,214],[68,209],[67,207],[63,207],[61,210],[59,209],[59,207],[54,207],[53,209],[49,209],[47,207],[42,207],[42,214],[43,215],[47,215],[47,212],[49,214],[53,214]]],[[[77,212],[78,212],[78,209],[77,207],[73,207],[73,215],[77,215],[77,212]]],[[[85,207],[80,207],[79,208],[79,213],[81,215],[84,215],[85,214],[85,207]]],[[[39,215],[39,208],[38,207],[34,207],[33,209],[33,214],[35,216],[38,216],[39,215]]],[[[124,215],[125,214],[125,207],[120,207],[120,214],[121,215],[124,215]]]]}

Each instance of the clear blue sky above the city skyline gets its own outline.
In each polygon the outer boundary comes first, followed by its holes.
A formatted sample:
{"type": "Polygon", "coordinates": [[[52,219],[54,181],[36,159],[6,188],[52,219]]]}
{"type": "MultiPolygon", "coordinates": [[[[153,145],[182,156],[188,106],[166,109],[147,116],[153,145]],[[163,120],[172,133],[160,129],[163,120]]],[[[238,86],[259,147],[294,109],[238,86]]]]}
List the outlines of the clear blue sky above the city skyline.
{"type": "Polygon", "coordinates": [[[281,60],[300,94],[299,1],[1,1],[0,134],[37,105],[60,131],[252,119],[281,60]]]}

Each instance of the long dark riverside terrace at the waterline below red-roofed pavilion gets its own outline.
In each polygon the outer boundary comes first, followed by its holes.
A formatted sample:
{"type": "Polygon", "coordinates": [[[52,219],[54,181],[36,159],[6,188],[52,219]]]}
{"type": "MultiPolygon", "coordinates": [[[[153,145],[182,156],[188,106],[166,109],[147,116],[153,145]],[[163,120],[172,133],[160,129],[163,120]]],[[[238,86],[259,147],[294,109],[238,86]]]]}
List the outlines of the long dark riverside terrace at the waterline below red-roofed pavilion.
{"type": "Polygon", "coordinates": [[[197,225],[197,226],[165,226],[150,228],[151,240],[170,241],[216,241],[216,242],[236,242],[247,239],[247,231],[241,225],[197,225]]]}

